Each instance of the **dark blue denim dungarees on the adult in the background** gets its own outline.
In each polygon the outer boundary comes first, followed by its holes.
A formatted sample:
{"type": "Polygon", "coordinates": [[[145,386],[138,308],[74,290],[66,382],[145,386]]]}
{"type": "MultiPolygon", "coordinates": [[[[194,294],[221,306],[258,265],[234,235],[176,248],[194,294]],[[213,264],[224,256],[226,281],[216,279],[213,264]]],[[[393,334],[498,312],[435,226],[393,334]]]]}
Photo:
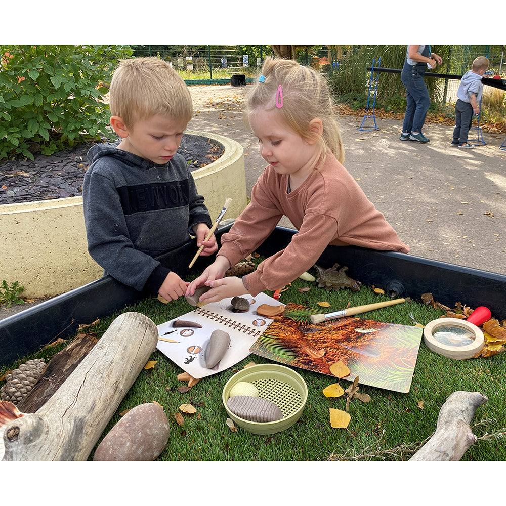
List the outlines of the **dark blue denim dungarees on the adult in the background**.
{"type": "Polygon", "coordinates": [[[401,81],[406,87],[407,107],[404,114],[404,122],[402,123],[403,132],[421,132],[424,126],[425,116],[431,105],[429,92],[424,82],[425,68],[424,66],[413,65],[411,70],[406,71],[405,68],[401,72],[401,81]]]}

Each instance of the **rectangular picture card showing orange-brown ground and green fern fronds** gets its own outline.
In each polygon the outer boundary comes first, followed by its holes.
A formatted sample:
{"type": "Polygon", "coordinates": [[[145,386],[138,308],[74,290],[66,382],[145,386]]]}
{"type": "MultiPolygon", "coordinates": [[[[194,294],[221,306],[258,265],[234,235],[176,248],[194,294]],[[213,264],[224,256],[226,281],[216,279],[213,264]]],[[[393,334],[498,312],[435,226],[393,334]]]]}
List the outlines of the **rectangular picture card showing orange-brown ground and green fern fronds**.
{"type": "Polygon", "coordinates": [[[346,317],[312,324],[314,311],[289,303],[249,351],[276,362],[332,375],[342,361],[362,385],[409,392],[423,329],[346,317]]]}

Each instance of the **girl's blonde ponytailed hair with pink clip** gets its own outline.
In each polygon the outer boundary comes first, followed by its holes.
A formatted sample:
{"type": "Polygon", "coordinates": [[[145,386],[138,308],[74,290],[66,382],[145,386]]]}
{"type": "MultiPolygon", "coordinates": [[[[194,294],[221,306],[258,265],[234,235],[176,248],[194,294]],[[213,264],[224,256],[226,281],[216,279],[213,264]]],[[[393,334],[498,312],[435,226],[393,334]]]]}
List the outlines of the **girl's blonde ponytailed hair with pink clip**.
{"type": "Polygon", "coordinates": [[[339,124],[333,113],[333,102],[325,79],[311,67],[299,65],[293,60],[267,58],[261,75],[247,94],[245,121],[259,109],[276,110],[286,124],[304,139],[316,140],[325,159],[327,148],[341,162],[345,152],[341,142],[339,124]],[[276,94],[281,85],[283,107],[276,108],[276,94]],[[319,118],[323,124],[322,135],[310,129],[311,120],[319,118]]]}

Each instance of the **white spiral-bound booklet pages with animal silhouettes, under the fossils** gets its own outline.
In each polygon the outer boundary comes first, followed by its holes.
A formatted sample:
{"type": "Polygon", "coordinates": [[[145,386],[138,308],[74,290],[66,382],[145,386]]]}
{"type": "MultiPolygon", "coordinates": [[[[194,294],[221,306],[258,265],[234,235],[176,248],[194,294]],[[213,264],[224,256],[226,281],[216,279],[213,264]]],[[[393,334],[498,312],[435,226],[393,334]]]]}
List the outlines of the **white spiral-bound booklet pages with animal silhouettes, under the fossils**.
{"type": "Polygon", "coordinates": [[[273,321],[257,315],[256,309],[262,304],[279,306],[281,303],[265,293],[252,297],[242,295],[249,304],[246,313],[235,313],[231,299],[223,299],[195,308],[193,311],[157,325],[158,337],[174,342],[158,341],[156,348],[196,379],[224,371],[250,355],[249,348],[273,321]],[[197,327],[172,326],[175,320],[186,320],[202,325],[197,327]],[[205,365],[205,350],[210,335],[221,329],[230,335],[230,345],[223,358],[212,369],[205,365]]]}

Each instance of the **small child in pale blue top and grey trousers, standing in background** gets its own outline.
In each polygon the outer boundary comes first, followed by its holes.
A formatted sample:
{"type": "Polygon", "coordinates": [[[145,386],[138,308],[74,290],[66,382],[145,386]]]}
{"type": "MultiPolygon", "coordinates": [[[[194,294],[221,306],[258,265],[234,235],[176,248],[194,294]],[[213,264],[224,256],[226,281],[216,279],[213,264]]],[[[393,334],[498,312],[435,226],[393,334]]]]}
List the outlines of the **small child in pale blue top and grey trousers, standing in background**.
{"type": "MultiPolygon", "coordinates": [[[[488,58],[479,56],[460,79],[455,104],[455,129],[453,130],[452,146],[459,148],[474,148],[468,142],[468,133],[473,121],[473,113],[480,112],[480,100],[483,92],[481,78],[485,74],[490,62],[488,58]]],[[[488,77],[488,76],[486,76],[488,77]]]]}

